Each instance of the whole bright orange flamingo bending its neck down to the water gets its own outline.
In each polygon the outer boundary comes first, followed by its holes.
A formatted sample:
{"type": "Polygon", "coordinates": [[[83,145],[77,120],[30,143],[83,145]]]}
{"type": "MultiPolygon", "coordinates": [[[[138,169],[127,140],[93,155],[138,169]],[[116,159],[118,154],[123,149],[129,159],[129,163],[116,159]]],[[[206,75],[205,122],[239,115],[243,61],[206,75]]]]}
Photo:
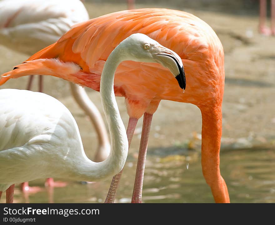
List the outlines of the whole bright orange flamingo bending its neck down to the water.
{"type": "MultiPolygon", "coordinates": [[[[10,78],[51,75],[99,91],[100,75],[108,55],[126,37],[143,33],[175,51],[182,59],[184,81],[170,78],[169,71],[154,63],[124,61],[116,71],[114,90],[124,96],[129,114],[129,145],[138,119],[143,130],[132,202],[141,202],[148,135],[160,100],[197,105],[202,113],[202,172],[217,203],[228,203],[227,186],[220,174],[224,53],[212,28],[187,12],[170,9],[135,9],[114,12],[75,25],[58,42],[31,56],[2,75],[10,78]],[[55,58],[61,63],[57,64],[55,58]],[[80,67],[76,69],[71,62],[80,67]],[[154,74],[154,76],[151,76],[154,74]]],[[[121,172],[122,173],[122,172],[121,172]]],[[[113,202],[121,173],[113,178],[105,202],[113,202]]]]}

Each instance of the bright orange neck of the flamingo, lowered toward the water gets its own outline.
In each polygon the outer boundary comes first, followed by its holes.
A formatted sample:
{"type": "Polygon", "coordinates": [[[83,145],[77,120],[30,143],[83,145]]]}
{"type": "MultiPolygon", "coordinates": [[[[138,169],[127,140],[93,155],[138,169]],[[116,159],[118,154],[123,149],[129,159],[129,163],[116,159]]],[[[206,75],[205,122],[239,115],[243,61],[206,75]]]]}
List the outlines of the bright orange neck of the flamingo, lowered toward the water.
{"type": "Polygon", "coordinates": [[[226,183],[220,173],[222,105],[200,107],[202,112],[202,173],[216,203],[229,203],[226,183]]]}

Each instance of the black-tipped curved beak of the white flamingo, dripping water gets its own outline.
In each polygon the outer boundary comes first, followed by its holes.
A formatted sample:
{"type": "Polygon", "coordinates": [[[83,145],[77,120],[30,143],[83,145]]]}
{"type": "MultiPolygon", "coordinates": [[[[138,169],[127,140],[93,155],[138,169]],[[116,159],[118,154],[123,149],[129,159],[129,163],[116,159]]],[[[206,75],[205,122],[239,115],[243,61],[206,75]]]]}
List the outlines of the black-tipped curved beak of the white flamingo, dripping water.
{"type": "Polygon", "coordinates": [[[183,62],[178,54],[168,48],[163,47],[162,52],[157,53],[157,60],[160,64],[167,67],[177,79],[179,86],[185,90],[186,79],[183,62]]]}

